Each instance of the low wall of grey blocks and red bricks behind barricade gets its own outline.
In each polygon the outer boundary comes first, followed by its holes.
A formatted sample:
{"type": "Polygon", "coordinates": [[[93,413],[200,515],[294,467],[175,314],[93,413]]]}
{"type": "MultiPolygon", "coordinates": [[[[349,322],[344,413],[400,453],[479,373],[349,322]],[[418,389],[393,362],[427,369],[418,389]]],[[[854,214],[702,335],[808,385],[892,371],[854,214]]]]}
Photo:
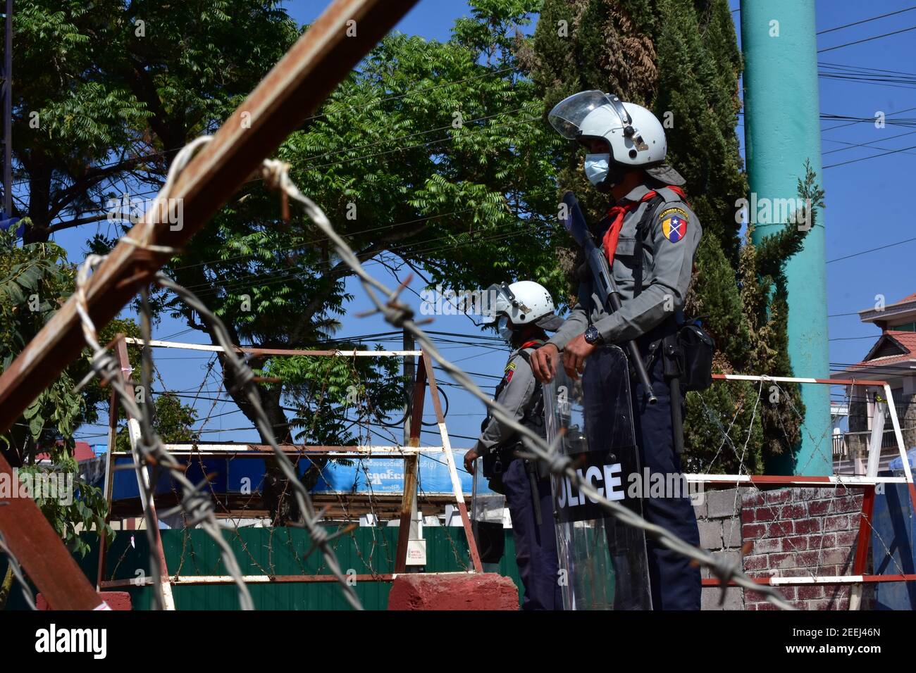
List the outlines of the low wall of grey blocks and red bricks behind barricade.
{"type": "MultiPolygon", "coordinates": [[[[741,559],[751,577],[804,577],[852,573],[862,491],[860,489],[756,488],[707,491],[695,505],[700,542],[715,555],[741,559]],[[742,549],[744,551],[741,557],[742,549]]],[[[703,577],[708,571],[703,570],[703,577]]],[[[782,586],[803,610],[846,610],[851,585],[782,586]]],[[[863,607],[870,602],[866,587],[863,607]]],[[[758,592],[703,589],[704,610],[769,610],[758,592]]]]}

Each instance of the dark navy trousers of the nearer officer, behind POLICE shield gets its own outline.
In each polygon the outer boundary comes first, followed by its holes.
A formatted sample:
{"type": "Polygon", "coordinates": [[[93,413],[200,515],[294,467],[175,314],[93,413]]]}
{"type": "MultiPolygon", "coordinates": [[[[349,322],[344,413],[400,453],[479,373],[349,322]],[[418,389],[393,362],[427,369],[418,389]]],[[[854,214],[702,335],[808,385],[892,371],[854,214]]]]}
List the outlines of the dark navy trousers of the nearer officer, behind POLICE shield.
{"type": "MultiPolygon", "coordinates": [[[[663,475],[681,473],[681,457],[674,452],[671,430],[671,389],[665,382],[663,363],[656,358],[649,370],[652,389],[659,401],[649,406],[638,381],[631,382],[636,440],[639,446],[640,469],[663,475]]],[[[667,481],[667,480],[666,480],[667,481]]],[[[643,498],[643,516],[650,523],[670,531],[685,542],[700,545],[690,497],[643,498]]],[[[700,569],[691,568],[686,557],[646,539],[649,553],[649,581],[652,585],[652,607],[655,610],[699,610],[700,569]]]]}

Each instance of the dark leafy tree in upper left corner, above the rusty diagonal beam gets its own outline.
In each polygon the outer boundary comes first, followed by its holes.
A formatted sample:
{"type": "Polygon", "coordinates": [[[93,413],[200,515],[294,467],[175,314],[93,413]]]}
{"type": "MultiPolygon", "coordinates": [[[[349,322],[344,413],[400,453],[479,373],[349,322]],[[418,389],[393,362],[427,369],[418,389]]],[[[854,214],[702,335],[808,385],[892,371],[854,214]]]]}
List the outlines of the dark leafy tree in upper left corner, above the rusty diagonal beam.
{"type": "Polygon", "coordinates": [[[27,242],[155,194],[297,36],[278,0],[16,3],[13,138],[27,242]]]}

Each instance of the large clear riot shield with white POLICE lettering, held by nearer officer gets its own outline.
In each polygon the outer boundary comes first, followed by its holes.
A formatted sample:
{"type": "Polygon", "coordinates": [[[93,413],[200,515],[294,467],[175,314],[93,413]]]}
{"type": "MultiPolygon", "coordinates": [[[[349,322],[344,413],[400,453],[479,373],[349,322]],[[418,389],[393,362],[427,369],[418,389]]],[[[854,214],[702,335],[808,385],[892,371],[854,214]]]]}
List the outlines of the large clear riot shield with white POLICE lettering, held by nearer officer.
{"type": "MultiPolygon", "coordinates": [[[[573,459],[583,481],[608,500],[641,516],[638,494],[629,494],[629,475],[640,470],[627,356],[602,346],[573,381],[558,364],[544,385],[548,441],[573,459]],[[631,497],[633,495],[634,497],[631,497]]],[[[557,550],[565,570],[565,610],[650,610],[646,537],[624,526],[601,505],[580,493],[567,477],[552,477],[557,550]]]]}

